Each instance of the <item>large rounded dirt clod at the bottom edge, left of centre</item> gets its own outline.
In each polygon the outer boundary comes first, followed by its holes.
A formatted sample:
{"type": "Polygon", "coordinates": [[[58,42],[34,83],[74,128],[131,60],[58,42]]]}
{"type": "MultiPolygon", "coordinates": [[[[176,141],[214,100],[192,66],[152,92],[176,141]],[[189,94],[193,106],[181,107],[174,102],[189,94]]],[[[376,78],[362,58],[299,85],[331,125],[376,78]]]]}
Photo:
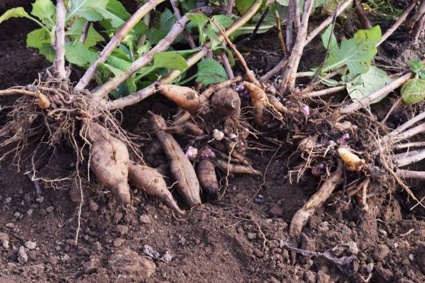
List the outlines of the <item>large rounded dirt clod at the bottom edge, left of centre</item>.
{"type": "Polygon", "coordinates": [[[156,271],[156,265],[149,257],[140,256],[128,248],[118,250],[108,261],[110,271],[115,274],[126,274],[128,281],[140,282],[151,277],[156,271]]]}

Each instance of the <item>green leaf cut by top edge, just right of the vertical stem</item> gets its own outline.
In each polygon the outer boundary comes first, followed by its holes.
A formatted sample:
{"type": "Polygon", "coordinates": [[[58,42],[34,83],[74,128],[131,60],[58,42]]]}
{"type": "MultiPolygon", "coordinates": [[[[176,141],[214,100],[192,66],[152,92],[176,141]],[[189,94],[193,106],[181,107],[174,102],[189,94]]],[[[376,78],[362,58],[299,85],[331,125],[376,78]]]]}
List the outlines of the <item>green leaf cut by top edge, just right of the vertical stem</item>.
{"type": "Polygon", "coordinates": [[[80,16],[90,22],[103,19],[101,12],[106,11],[109,0],[72,0],[72,9],[67,14],[67,21],[80,16]]]}

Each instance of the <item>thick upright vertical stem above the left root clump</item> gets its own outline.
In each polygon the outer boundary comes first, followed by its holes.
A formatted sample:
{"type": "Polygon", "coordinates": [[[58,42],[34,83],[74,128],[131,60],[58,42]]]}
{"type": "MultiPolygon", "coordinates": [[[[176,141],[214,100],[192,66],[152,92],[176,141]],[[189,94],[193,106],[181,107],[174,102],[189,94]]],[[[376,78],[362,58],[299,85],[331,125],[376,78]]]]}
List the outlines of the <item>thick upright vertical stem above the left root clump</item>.
{"type": "Polygon", "coordinates": [[[55,49],[55,69],[61,78],[67,77],[67,71],[65,70],[65,17],[67,15],[67,9],[63,0],[56,2],[56,41],[55,49]]]}

